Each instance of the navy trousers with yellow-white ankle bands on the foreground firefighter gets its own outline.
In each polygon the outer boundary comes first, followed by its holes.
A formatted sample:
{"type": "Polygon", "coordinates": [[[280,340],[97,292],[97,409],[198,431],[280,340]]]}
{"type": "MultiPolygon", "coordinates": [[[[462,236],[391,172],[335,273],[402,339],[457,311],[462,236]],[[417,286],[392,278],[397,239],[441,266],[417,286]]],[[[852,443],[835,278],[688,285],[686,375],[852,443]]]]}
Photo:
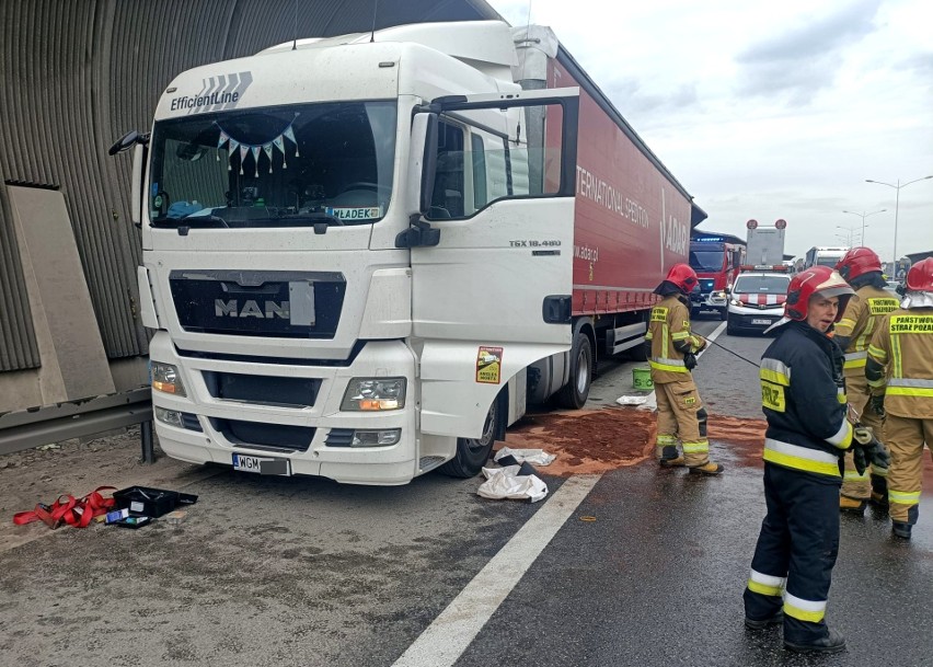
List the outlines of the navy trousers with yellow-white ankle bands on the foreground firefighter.
{"type": "Polygon", "coordinates": [[[772,618],[784,610],[784,641],[811,644],[829,632],[826,601],[839,552],[837,478],[764,463],[768,514],[751,560],[745,616],[772,618]]]}

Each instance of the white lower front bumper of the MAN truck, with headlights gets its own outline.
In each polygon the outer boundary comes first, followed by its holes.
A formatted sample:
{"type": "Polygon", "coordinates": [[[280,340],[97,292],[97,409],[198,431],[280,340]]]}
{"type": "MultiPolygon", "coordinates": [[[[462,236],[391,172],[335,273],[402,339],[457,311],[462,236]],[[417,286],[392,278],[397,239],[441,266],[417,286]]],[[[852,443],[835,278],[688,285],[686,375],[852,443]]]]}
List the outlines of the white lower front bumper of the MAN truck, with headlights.
{"type": "MultiPolygon", "coordinates": [[[[405,484],[423,472],[416,437],[415,357],[398,341],[367,344],[346,366],[266,358],[204,358],[178,354],[164,332],[150,345],[153,361],[177,369],[186,395],[153,390],[156,432],[162,450],[192,463],[233,464],[233,455],[288,461],[290,474],[319,475],[356,484],[405,484]],[[380,412],[341,410],[352,378],[406,380],[404,406],[380,412]],[[218,378],[221,380],[218,381],[218,378]],[[242,393],[263,383],[311,387],[287,402],[281,395],[230,400],[218,386],[239,383],[242,393]],[[256,400],[260,399],[260,400],[256,400]],[[166,419],[166,411],[173,413],[166,419]],[[356,432],[399,432],[393,445],[352,447],[356,432]]],[[[433,439],[436,440],[436,439],[433,439]]],[[[450,442],[433,441],[430,468],[454,453],[450,442]]]]}

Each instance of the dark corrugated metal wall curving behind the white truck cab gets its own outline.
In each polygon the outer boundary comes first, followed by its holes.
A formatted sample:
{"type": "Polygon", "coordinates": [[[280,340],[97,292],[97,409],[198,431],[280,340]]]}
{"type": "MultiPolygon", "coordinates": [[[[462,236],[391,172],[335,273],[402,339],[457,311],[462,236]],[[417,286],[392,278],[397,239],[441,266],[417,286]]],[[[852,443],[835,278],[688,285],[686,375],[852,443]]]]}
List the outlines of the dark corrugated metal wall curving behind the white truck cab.
{"type": "MultiPolygon", "coordinates": [[[[147,337],[136,317],[141,253],[129,225],[130,158],[106,149],[129,129],[148,130],[178,72],[296,34],[369,30],[373,7],[376,0],[0,2],[0,84],[11,91],[0,97],[0,176],[61,185],[110,358],[145,354],[147,337]]],[[[477,0],[379,0],[376,24],[494,15],[477,0]]],[[[0,206],[0,370],[38,359],[10,228],[0,206]]]]}

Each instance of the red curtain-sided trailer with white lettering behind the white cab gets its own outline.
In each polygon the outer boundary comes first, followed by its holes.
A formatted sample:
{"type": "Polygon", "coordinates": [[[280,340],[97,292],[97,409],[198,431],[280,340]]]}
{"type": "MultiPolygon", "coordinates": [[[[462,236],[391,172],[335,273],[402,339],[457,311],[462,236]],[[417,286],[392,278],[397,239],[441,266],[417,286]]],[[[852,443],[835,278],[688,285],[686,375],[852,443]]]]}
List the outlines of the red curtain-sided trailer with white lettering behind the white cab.
{"type": "Polygon", "coordinates": [[[580,407],[598,355],[627,352],[645,359],[646,322],[658,301],[653,290],[673,264],[688,261],[690,231],[706,214],[550,28],[532,25],[515,34],[518,71],[528,72],[526,64],[541,62],[543,55],[549,89],[580,89],[573,348],[566,367],[557,368],[553,358],[537,364],[529,392],[529,401],[538,401],[561,387],[558,402],[580,407]]]}

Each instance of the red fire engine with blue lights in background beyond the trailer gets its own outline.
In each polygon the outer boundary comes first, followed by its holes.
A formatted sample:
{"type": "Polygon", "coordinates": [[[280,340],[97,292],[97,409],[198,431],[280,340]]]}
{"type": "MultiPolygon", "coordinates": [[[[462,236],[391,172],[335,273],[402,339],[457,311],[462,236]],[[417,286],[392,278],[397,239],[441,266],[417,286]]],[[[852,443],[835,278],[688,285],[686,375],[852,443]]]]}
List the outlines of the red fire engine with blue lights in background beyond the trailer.
{"type": "Polygon", "coordinates": [[[723,237],[701,237],[690,242],[690,266],[699,278],[699,285],[690,295],[693,314],[715,310],[721,319],[726,319],[726,288],[735,283],[742,262],[745,246],[741,243],[730,243],[723,237]]]}

